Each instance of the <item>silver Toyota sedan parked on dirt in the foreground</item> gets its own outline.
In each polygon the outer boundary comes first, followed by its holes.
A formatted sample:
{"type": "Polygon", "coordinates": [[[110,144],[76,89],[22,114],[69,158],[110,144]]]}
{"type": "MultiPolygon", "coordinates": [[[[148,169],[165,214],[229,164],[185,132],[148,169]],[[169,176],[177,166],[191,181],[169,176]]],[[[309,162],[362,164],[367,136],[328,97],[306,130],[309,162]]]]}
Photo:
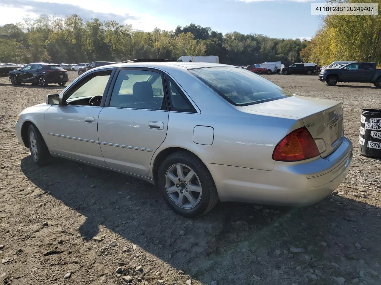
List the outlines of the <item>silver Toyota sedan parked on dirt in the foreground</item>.
{"type": "Polygon", "coordinates": [[[38,165],[63,157],[147,180],[186,217],[218,201],[315,203],[352,160],[341,102],[213,63],[94,68],[24,109],[16,134],[38,165]]]}

